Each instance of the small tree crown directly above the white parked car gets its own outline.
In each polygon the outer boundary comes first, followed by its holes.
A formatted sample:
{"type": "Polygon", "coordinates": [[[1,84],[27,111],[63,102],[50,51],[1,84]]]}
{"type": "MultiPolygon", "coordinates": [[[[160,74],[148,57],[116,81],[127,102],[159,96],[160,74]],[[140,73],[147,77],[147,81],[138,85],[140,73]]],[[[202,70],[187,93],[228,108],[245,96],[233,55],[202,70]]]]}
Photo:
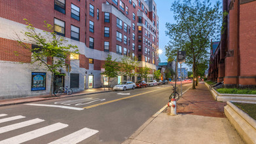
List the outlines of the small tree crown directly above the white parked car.
{"type": "Polygon", "coordinates": [[[121,58],[120,70],[122,71],[123,75],[128,75],[131,80],[132,77],[136,75],[135,70],[137,69],[137,65],[138,62],[136,58],[124,56],[121,58]]]}

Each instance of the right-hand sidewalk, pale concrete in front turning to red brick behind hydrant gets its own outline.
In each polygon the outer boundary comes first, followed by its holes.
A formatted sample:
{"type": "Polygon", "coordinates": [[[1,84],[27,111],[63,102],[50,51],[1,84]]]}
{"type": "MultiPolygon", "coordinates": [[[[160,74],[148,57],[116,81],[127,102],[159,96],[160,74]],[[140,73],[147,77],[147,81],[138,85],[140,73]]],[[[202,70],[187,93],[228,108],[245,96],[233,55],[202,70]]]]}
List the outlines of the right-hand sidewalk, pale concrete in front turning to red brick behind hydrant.
{"type": "Polygon", "coordinates": [[[156,113],[124,143],[244,143],[225,117],[225,104],[200,83],[177,101],[178,115],[156,113]]]}

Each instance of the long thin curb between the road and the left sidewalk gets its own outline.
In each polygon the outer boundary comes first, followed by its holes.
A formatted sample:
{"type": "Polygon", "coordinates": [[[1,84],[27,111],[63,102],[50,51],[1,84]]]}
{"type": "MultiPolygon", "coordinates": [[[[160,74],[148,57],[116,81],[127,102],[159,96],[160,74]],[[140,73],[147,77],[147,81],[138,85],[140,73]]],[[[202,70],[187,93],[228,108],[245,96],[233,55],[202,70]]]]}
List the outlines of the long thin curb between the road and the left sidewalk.
{"type": "MultiPolygon", "coordinates": [[[[23,103],[33,103],[33,102],[37,102],[37,101],[46,101],[46,100],[50,100],[50,99],[63,99],[63,98],[71,98],[71,97],[75,97],[75,96],[84,96],[84,95],[90,95],[90,94],[100,94],[100,93],[105,93],[105,92],[113,92],[113,90],[108,90],[108,91],[103,91],[103,92],[92,92],[92,93],[88,93],[88,94],[74,94],[71,96],[65,96],[65,97],[50,97],[50,98],[45,98],[45,99],[36,99],[36,100],[32,100],[32,101],[20,101],[17,103],[6,103],[6,104],[0,104],[0,107],[3,106],[8,106],[8,105],[18,105],[18,104],[23,104],[23,103]]],[[[33,97],[31,97],[33,98],[33,97]]]]}

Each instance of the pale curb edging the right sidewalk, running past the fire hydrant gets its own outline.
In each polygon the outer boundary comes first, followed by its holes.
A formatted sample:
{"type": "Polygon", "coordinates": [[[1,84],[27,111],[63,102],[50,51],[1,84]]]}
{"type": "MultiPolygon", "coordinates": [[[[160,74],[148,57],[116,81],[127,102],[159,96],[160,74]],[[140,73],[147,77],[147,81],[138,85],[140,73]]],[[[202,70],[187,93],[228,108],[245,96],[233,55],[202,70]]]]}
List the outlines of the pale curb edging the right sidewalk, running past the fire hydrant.
{"type": "MultiPolygon", "coordinates": [[[[190,90],[192,88],[189,87],[187,90],[185,90],[185,92],[187,92],[188,90],[190,90]]],[[[183,92],[182,94],[185,94],[185,92],[183,92]]],[[[128,137],[128,139],[126,139],[124,142],[122,142],[121,144],[130,144],[132,143],[132,141],[137,137],[137,135],[139,135],[158,115],[160,115],[160,113],[162,113],[162,111],[164,111],[164,109],[166,109],[168,107],[168,105],[164,105],[164,107],[162,107],[162,109],[160,109],[159,111],[157,111],[153,116],[151,116],[146,122],[144,122],[144,124],[142,124],[142,126],[140,126],[135,132],[134,134],[132,134],[130,137],[128,137]]]]}

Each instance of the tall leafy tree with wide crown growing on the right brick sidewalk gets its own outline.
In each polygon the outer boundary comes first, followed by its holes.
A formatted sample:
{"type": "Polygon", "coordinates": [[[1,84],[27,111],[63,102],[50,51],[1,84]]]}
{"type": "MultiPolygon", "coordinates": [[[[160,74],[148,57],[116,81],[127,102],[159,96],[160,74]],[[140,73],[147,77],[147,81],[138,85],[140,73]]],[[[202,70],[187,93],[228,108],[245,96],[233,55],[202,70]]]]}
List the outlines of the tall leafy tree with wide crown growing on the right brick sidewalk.
{"type": "Polygon", "coordinates": [[[217,39],[221,32],[221,3],[211,5],[210,1],[183,0],[175,1],[171,10],[174,11],[174,24],[167,23],[166,35],[170,42],[166,46],[166,56],[174,60],[177,50],[186,51],[186,63],[192,65],[193,84],[196,88],[196,72],[198,64],[205,62],[210,50],[210,39],[217,39]]]}

